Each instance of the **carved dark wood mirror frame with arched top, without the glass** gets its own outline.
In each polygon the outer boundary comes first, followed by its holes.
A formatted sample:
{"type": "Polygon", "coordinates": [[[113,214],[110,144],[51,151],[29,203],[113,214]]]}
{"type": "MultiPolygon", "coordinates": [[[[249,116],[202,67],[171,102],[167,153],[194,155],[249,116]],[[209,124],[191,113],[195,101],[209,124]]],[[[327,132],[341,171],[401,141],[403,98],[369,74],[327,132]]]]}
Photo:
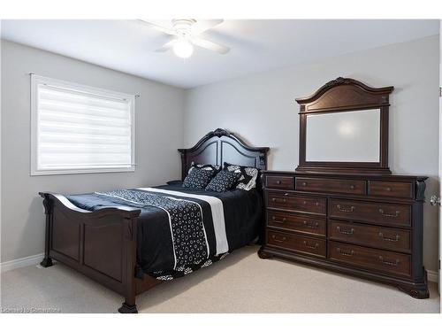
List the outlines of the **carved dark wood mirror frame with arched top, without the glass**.
{"type": "Polygon", "coordinates": [[[338,77],[309,97],[296,98],[300,104],[300,147],[297,173],[391,174],[388,167],[389,95],[393,87],[370,88],[361,81],[338,77]],[[352,112],[380,109],[378,162],[306,161],[307,116],[312,113],[352,112]]]}

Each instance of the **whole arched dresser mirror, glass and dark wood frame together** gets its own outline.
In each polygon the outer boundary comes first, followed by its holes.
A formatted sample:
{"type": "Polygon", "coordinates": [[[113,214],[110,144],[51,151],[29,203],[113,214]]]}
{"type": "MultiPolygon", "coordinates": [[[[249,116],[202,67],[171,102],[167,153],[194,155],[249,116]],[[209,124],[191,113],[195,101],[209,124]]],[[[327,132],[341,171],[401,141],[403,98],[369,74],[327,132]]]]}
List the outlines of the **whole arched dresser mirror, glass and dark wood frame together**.
{"type": "Polygon", "coordinates": [[[389,96],[338,77],[300,104],[300,174],[391,174],[388,167],[389,96]]]}

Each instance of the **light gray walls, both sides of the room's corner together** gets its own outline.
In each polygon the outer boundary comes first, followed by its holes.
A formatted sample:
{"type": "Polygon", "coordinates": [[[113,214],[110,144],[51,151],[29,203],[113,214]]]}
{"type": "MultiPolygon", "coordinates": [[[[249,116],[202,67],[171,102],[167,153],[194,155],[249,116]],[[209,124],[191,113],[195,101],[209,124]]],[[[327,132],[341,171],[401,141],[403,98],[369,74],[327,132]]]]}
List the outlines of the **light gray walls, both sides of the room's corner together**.
{"type": "MultiPolygon", "coordinates": [[[[390,109],[392,172],[426,174],[431,177],[427,197],[438,191],[438,36],[187,91],[13,42],[2,41],[1,46],[2,262],[43,251],[44,220],[38,191],[88,192],[179,178],[176,149],[193,145],[216,127],[240,133],[248,143],[270,146],[271,169],[293,170],[298,164],[299,128],[294,98],[308,96],[338,76],[372,86],[394,85],[390,109]],[[28,72],[103,89],[139,92],[136,171],[29,176],[28,72]]],[[[425,204],[424,215],[424,262],[428,269],[437,271],[438,211],[425,204]]]]}

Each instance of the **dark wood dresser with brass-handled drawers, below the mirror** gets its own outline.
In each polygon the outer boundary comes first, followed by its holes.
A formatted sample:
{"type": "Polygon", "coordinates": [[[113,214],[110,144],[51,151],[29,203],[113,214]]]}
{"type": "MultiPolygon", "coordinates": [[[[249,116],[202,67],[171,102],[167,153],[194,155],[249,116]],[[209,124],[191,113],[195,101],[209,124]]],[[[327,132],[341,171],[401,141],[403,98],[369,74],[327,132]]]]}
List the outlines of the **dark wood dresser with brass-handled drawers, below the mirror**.
{"type": "Polygon", "coordinates": [[[425,179],[265,171],[265,240],[259,256],[429,297],[422,249],[425,179]]]}

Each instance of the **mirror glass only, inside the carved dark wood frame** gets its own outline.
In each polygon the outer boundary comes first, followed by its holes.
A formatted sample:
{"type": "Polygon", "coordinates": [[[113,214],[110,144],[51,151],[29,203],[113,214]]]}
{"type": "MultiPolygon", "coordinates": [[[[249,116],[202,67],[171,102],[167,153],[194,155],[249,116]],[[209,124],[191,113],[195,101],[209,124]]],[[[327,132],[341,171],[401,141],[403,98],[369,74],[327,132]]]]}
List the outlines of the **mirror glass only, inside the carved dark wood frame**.
{"type": "Polygon", "coordinates": [[[306,161],[379,162],[380,109],[306,117],[306,161]]]}

